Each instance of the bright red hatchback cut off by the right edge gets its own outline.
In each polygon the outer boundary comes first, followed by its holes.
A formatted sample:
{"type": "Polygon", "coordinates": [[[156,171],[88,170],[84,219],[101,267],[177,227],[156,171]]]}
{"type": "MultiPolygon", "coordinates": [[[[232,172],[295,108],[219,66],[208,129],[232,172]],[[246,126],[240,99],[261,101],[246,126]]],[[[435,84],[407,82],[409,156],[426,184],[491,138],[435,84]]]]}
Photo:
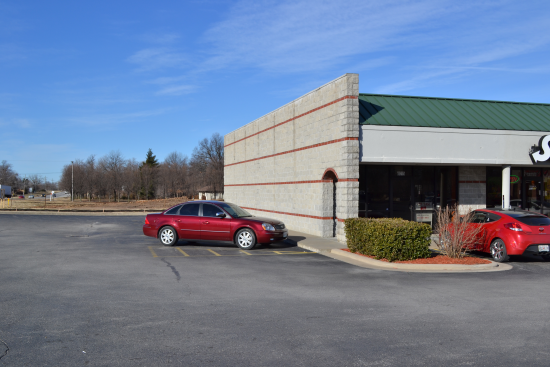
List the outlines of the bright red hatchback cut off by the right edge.
{"type": "Polygon", "coordinates": [[[494,261],[510,255],[538,255],[550,260],[550,218],[523,210],[479,209],[473,223],[483,225],[484,239],[477,250],[488,252],[494,261]]]}

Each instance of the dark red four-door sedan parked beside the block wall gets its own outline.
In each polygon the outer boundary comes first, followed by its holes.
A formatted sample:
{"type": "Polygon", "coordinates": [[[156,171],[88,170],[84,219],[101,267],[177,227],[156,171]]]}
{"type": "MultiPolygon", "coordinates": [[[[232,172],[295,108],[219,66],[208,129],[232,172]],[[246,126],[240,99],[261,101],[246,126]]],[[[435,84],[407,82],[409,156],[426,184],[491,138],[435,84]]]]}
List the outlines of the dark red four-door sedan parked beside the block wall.
{"type": "Polygon", "coordinates": [[[179,239],[231,241],[243,250],[258,243],[283,241],[288,230],[283,222],[256,217],[235,204],[223,201],[191,201],[162,213],[147,214],[143,234],[165,246],[179,239]]]}

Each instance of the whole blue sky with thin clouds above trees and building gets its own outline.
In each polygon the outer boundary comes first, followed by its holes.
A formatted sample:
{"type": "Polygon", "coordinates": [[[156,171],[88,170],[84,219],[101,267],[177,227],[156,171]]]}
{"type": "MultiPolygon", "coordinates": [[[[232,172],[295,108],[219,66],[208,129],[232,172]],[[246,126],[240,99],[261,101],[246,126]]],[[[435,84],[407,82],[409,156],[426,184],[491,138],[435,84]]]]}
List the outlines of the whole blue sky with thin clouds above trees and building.
{"type": "Polygon", "coordinates": [[[2,1],[0,160],[57,179],[190,155],[344,74],[360,92],[550,103],[548,1],[2,1]]]}

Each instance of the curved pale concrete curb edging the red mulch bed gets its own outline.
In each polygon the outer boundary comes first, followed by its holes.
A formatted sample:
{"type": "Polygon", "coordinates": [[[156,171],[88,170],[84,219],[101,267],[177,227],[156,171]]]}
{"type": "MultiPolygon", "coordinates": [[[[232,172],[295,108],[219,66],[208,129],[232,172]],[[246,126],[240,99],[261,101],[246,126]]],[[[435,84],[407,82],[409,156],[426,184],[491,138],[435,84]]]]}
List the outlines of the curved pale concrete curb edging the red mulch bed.
{"type": "Polygon", "coordinates": [[[377,268],[384,268],[387,270],[414,270],[414,271],[426,271],[426,272],[488,272],[488,271],[505,271],[511,270],[513,267],[510,264],[499,264],[491,261],[491,264],[480,265],[457,265],[457,264],[398,264],[389,263],[386,261],[379,261],[353,254],[351,252],[343,251],[340,249],[332,249],[331,254],[338,257],[348,258],[355,262],[363,263],[367,266],[373,266],[377,268]]]}

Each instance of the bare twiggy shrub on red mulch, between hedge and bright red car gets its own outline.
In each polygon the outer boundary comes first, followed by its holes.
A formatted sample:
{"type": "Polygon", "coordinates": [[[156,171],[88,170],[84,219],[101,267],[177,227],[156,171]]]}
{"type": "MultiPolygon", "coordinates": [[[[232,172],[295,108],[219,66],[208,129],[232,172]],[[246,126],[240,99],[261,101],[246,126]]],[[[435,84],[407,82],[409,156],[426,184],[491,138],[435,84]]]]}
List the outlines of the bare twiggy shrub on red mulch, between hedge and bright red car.
{"type": "Polygon", "coordinates": [[[482,224],[474,222],[474,212],[467,208],[466,214],[461,216],[458,208],[458,204],[446,206],[436,214],[437,247],[442,254],[454,259],[477,249],[484,235],[482,224]]]}

